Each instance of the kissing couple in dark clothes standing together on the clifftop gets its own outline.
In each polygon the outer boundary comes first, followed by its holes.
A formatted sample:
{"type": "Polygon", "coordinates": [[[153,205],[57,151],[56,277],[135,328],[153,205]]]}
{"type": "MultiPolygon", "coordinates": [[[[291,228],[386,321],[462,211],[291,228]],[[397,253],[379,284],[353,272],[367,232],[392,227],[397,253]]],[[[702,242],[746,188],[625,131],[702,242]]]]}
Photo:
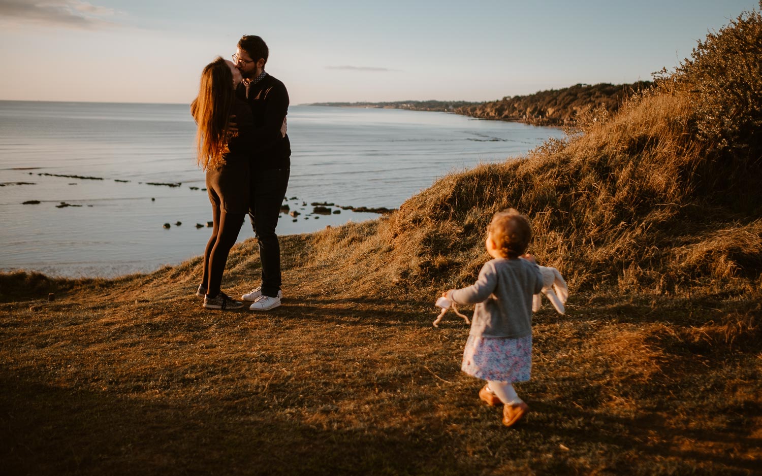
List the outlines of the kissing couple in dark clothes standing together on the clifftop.
{"type": "Polygon", "coordinates": [[[289,97],[286,86],[264,71],[267,56],[261,37],[241,37],[232,61],[218,56],[203,69],[191,104],[198,164],[207,174],[213,214],[196,292],[208,309],[239,309],[251,302],[251,311],[267,311],[280,306],[283,298],[275,227],[291,167],[289,97]],[[239,301],[220,286],[247,214],[259,244],[261,284],[239,301]]]}

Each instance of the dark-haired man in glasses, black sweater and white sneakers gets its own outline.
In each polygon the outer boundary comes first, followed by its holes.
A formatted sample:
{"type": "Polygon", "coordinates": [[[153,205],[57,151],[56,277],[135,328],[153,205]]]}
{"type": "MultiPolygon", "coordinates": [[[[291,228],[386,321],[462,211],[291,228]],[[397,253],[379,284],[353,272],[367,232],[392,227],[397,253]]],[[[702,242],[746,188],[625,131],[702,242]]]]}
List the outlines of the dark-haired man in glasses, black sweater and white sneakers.
{"type": "Polygon", "coordinates": [[[282,82],[264,72],[267,56],[267,44],[255,35],[241,37],[233,55],[235,67],[244,78],[235,94],[249,104],[255,123],[248,215],[259,241],[262,283],[242,296],[245,301],[253,301],[249,307],[252,311],[277,308],[283,297],[275,227],[291,167],[291,145],[285,133],[288,91],[282,82]]]}

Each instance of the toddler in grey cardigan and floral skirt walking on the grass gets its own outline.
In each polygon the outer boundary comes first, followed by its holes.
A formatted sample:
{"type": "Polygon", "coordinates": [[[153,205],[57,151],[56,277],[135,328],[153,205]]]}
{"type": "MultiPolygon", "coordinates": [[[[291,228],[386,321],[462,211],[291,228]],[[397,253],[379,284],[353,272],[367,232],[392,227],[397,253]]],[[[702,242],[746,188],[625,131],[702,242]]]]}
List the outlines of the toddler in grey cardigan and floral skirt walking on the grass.
{"type": "Polygon", "coordinates": [[[543,288],[543,275],[527,251],[532,230],[515,209],[498,212],[487,227],[488,261],[479,280],[444,297],[456,304],[476,304],[461,369],[487,384],[479,398],[503,403],[503,424],[511,426],[529,411],[512,382],[530,379],[532,366],[532,296],[543,288]]]}

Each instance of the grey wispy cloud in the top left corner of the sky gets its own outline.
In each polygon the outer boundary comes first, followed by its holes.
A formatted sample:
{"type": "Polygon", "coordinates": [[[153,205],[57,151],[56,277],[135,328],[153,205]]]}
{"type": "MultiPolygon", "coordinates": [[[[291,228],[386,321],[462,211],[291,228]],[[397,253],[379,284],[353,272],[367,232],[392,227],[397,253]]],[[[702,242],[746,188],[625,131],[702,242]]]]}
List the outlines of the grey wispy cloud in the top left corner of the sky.
{"type": "Polygon", "coordinates": [[[0,17],[5,24],[42,24],[92,30],[114,27],[104,18],[117,14],[113,8],[81,0],[0,0],[0,17]]]}

